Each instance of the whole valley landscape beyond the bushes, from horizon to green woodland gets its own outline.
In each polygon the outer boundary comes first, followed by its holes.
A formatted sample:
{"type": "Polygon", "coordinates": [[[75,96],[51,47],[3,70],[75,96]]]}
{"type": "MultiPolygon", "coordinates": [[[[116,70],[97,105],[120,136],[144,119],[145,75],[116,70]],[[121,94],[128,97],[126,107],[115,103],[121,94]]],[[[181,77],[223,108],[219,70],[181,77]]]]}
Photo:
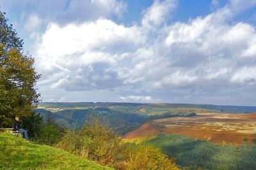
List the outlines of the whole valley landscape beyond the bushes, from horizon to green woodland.
{"type": "MultiPolygon", "coordinates": [[[[211,104],[40,103],[44,121],[79,129],[92,117],[132,147],[153,146],[180,169],[255,169],[256,107],[211,104]]],[[[144,153],[143,153],[144,154],[144,153]]]]}

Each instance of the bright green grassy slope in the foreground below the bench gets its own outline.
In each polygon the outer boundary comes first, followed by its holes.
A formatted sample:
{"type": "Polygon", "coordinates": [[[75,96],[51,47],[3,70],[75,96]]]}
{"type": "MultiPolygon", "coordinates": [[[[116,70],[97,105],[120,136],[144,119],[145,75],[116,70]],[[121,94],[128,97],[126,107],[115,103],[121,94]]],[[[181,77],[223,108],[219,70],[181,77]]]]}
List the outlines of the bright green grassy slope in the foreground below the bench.
{"type": "Polygon", "coordinates": [[[110,169],[58,148],[0,132],[0,169],[110,169]]]}

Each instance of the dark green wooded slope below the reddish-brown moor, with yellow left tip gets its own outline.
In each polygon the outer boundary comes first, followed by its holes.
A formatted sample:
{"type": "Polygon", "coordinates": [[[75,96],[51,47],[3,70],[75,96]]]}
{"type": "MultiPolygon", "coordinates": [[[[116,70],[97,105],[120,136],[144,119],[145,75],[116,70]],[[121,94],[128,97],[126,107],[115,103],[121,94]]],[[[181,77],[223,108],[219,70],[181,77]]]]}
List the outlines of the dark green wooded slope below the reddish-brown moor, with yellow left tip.
{"type": "MultiPolygon", "coordinates": [[[[126,139],[126,142],[129,139],[126,139]]],[[[179,166],[187,169],[256,169],[256,144],[253,145],[216,145],[176,134],[159,134],[132,139],[141,145],[153,145],[161,148],[170,158],[175,157],[179,166]]]]}

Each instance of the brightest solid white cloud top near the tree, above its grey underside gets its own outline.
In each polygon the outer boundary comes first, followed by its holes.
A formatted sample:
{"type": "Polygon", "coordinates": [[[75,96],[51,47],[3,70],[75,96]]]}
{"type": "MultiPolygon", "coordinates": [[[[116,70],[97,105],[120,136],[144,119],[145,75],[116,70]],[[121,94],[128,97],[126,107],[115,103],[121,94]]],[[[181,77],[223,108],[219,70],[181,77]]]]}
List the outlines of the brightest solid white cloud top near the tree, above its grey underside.
{"type": "Polygon", "coordinates": [[[65,27],[49,24],[42,36],[38,55],[58,59],[60,56],[81,53],[84,50],[111,51],[118,45],[138,45],[142,41],[143,35],[138,27],[124,27],[106,19],[81,25],[69,24],[65,27]]]}

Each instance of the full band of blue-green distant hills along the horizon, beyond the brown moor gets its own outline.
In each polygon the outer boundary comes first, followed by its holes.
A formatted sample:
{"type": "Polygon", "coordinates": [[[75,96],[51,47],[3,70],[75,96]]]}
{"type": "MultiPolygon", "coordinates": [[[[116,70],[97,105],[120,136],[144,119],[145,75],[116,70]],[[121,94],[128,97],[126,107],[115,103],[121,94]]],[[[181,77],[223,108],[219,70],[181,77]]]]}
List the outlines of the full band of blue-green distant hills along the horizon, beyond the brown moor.
{"type": "Polygon", "coordinates": [[[187,117],[196,113],[250,113],[256,107],[216,106],[211,104],[168,103],[40,103],[36,113],[45,120],[51,118],[65,127],[81,127],[90,116],[107,120],[118,134],[126,134],[148,120],[167,117],[187,117]]]}

